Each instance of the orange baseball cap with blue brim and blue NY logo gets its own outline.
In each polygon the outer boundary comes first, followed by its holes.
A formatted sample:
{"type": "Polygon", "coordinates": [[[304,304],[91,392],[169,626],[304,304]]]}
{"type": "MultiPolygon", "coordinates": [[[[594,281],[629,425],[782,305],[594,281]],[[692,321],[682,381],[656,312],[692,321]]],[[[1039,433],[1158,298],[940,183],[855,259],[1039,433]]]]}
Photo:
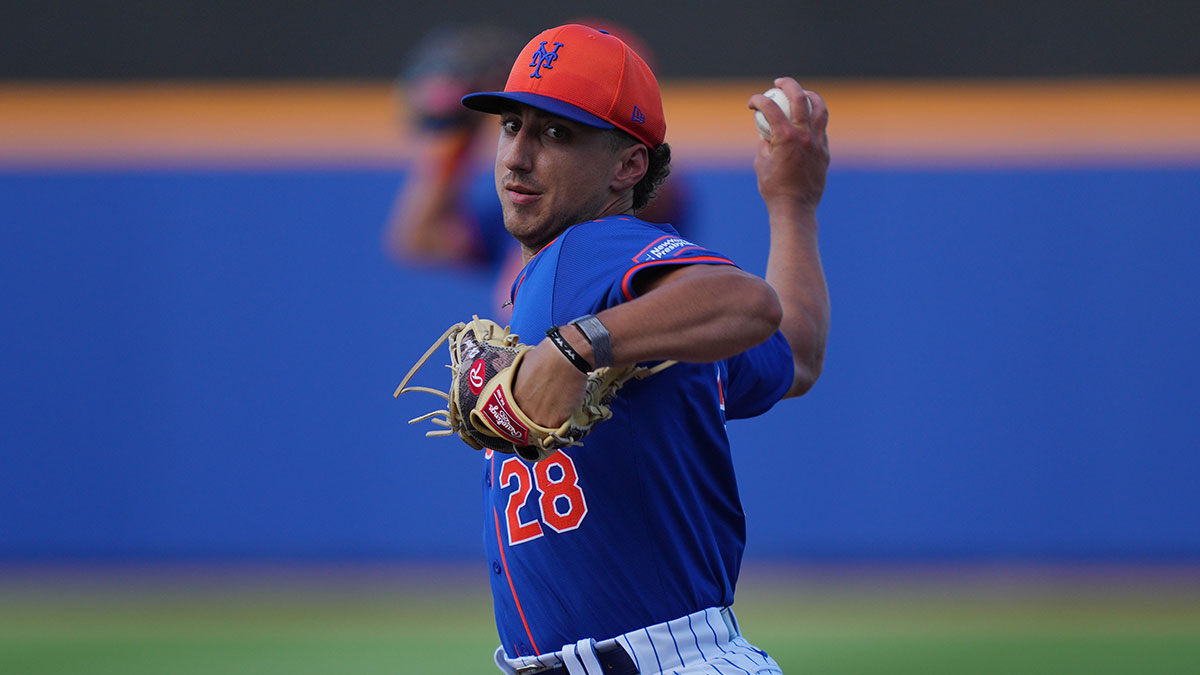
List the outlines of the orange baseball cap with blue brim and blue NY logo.
{"type": "Polygon", "coordinates": [[[667,135],[650,67],[614,35],[586,25],[542,31],[521,50],[504,91],[468,94],[462,104],[494,114],[505,101],[598,129],[617,127],[650,148],[667,135]]]}

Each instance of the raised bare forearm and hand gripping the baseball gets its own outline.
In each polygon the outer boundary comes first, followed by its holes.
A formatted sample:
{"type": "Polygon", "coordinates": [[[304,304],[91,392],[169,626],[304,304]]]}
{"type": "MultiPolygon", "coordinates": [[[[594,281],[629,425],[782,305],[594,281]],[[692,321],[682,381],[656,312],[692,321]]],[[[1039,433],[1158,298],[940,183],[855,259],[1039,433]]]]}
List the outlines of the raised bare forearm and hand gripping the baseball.
{"type": "Polygon", "coordinates": [[[799,396],[821,375],[829,335],[829,292],[817,249],[816,213],[829,167],[829,110],[816,91],[792,78],[779,78],[775,86],[787,95],[792,119],[762,94],[751,96],[749,107],[770,123],[770,138],[758,143],[755,173],[770,227],[767,281],[782,304],[780,330],[796,362],[786,396],[799,396]]]}

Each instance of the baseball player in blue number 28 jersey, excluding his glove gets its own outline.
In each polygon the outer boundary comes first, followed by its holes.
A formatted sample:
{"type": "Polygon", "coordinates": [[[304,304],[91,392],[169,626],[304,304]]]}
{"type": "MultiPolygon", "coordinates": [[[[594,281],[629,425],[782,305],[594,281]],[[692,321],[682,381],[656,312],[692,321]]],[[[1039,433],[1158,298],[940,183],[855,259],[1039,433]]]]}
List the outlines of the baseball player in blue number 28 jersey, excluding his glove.
{"type": "Polygon", "coordinates": [[[636,217],[670,147],[658,82],[620,40],[546,30],[503,91],[463,98],[499,121],[496,189],[524,258],[511,324],[538,344],[516,404],[553,426],[580,407],[588,370],[680,362],[626,384],[583,446],[538,462],[484,453],[504,673],[779,673],[731,609],[745,524],[725,425],[805,393],[821,371],[829,305],[816,208],[829,154],[822,98],[790,78],[775,85],[791,119],[766,96],[749,100],[772,132],[755,159],[766,280],[636,217]]]}

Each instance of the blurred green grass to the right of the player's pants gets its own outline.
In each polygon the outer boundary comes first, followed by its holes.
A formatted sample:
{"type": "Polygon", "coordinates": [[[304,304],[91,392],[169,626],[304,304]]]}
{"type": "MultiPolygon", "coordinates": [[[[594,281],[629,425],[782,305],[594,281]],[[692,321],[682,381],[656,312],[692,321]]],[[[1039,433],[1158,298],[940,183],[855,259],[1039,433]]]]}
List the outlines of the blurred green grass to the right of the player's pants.
{"type": "MultiPolygon", "coordinates": [[[[1104,584],[852,580],[755,586],[742,627],[787,673],[1200,673],[1200,593],[1104,584]]],[[[744,589],[745,590],[745,589],[744,589]]]]}

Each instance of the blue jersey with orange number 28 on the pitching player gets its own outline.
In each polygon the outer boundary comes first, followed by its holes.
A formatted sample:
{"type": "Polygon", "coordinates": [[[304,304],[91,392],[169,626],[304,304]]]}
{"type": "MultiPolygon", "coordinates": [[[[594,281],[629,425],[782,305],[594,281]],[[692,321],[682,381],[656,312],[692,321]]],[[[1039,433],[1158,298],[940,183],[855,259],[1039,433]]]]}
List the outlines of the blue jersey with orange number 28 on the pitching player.
{"type": "MultiPolygon", "coordinates": [[[[518,275],[512,330],[538,344],[552,325],[631,300],[636,275],[664,264],[733,263],[629,216],[572,226],[518,275]]],[[[631,381],[582,447],[539,464],[485,453],[484,544],[508,655],[732,604],[745,520],[725,422],[764,412],[792,377],[776,333],[722,362],[631,381]]]]}

